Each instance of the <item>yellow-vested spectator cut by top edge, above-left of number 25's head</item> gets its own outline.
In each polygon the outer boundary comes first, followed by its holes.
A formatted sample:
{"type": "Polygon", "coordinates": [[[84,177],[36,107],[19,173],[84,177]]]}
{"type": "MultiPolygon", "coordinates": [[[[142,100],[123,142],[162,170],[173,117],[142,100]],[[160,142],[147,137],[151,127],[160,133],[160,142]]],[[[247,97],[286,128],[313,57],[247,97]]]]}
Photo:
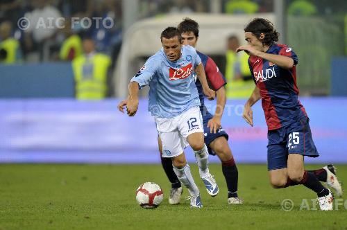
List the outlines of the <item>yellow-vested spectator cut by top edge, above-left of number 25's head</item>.
{"type": "Polygon", "coordinates": [[[258,11],[257,3],[250,0],[229,0],[225,5],[227,14],[251,15],[258,11]]]}

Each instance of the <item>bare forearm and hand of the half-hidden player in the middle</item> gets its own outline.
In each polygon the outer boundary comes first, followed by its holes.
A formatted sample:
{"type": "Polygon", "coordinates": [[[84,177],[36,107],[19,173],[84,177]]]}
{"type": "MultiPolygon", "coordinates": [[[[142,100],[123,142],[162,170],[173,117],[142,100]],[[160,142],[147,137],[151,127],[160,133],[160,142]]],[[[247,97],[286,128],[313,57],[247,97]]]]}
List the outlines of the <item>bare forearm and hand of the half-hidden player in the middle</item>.
{"type": "Polygon", "coordinates": [[[208,121],[208,127],[210,132],[216,133],[221,127],[221,117],[223,116],[224,107],[226,106],[226,89],[224,87],[219,88],[216,91],[217,95],[217,107],[214,112],[214,116],[208,121]]]}

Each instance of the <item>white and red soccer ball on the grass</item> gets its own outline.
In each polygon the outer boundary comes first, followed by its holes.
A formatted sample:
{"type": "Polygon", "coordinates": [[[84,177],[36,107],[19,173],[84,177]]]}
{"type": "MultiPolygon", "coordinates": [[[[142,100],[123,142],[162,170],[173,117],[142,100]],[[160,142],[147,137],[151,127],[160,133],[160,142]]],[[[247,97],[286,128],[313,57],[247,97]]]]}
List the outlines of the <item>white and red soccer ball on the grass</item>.
{"type": "Polygon", "coordinates": [[[155,209],[163,197],[162,188],[153,182],[145,182],[136,191],[136,201],[144,209],[155,209]]]}

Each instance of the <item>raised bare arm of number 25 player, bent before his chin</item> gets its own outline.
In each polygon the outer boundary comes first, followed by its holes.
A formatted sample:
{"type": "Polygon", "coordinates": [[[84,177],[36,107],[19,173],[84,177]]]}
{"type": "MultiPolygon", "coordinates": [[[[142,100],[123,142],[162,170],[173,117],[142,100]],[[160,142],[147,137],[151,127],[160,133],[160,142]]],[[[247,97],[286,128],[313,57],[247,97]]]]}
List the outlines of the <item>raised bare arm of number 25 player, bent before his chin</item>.
{"type": "Polygon", "coordinates": [[[248,53],[248,55],[262,57],[263,59],[266,59],[269,62],[272,62],[273,64],[276,64],[278,65],[278,67],[281,67],[283,69],[291,69],[294,66],[294,60],[291,59],[291,57],[258,51],[250,45],[239,46],[239,48],[237,48],[236,51],[245,51],[246,53],[248,53]]]}

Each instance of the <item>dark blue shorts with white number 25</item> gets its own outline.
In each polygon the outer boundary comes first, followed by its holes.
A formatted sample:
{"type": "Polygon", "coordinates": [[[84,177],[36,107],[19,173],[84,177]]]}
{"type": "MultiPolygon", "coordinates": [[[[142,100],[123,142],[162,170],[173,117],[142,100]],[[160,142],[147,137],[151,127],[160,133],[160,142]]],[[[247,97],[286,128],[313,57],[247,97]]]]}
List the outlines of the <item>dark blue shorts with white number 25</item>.
{"type": "Polygon", "coordinates": [[[312,139],[309,121],[308,117],[304,117],[291,125],[268,131],[268,170],[287,168],[288,154],[291,153],[307,157],[319,156],[312,139]]]}

